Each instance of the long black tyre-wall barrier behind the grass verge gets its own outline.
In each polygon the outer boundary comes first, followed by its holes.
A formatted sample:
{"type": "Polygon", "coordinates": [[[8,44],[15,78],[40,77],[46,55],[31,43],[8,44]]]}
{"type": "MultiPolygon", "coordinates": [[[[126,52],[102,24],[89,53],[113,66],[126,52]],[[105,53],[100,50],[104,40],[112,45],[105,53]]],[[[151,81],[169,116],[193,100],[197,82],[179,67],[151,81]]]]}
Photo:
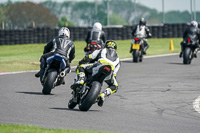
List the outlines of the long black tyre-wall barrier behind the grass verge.
{"type": "MultiPolygon", "coordinates": [[[[164,24],[148,26],[152,38],[176,38],[182,37],[187,24],[164,24]]],[[[83,41],[88,29],[91,27],[69,27],[73,41],[83,41]]],[[[133,26],[104,27],[107,39],[127,40],[131,39],[133,26]]],[[[58,35],[58,29],[31,28],[23,30],[0,30],[0,45],[47,43],[58,35]]]]}

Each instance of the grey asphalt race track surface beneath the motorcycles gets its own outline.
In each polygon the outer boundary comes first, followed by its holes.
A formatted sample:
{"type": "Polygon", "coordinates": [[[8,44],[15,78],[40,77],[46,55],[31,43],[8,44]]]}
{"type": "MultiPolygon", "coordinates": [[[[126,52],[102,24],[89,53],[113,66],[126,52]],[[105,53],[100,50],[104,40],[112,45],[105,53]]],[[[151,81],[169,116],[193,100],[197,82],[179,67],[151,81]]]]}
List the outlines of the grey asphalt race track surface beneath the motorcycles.
{"type": "Polygon", "coordinates": [[[142,63],[122,61],[118,92],[106,99],[103,107],[95,104],[88,112],[67,107],[73,71],[66,76],[66,84],[48,96],[42,95],[35,72],[0,75],[0,123],[114,132],[198,133],[200,113],[193,107],[200,95],[200,54],[198,57],[191,65],[183,65],[178,55],[145,58],[142,63]]]}

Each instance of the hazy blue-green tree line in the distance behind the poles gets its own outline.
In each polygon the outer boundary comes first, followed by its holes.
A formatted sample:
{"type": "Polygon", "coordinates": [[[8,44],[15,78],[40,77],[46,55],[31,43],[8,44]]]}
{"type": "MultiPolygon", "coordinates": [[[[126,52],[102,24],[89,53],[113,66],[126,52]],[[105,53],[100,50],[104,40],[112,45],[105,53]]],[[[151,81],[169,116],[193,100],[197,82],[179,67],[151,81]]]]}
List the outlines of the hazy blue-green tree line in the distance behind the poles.
{"type": "MultiPolygon", "coordinates": [[[[59,18],[66,16],[68,20],[76,26],[92,26],[96,21],[107,25],[107,1],[95,2],[52,2],[46,1],[42,4],[51,9],[59,18]],[[96,3],[95,3],[96,2],[96,3]]],[[[126,24],[137,24],[140,18],[145,18],[147,24],[161,24],[163,21],[163,13],[155,9],[148,8],[133,0],[109,0],[109,21],[113,21],[113,15],[120,16],[119,20],[125,20],[126,24]]],[[[200,21],[200,12],[196,12],[197,21],[200,21]]],[[[187,23],[191,19],[188,11],[170,11],[165,12],[165,23],[187,23]]],[[[114,17],[116,19],[116,17],[114,17]]]]}

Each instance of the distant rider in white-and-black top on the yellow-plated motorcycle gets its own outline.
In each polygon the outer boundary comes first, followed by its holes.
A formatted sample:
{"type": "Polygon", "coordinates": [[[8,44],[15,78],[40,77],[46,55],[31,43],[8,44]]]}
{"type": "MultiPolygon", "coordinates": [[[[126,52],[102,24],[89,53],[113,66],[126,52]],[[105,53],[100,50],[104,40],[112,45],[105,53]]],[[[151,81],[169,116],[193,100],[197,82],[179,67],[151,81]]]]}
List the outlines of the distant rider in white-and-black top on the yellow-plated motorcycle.
{"type": "MultiPolygon", "coordinates": [[[[151,37],[151,33],[149,31],[149,28],[146,26],[146,21],[144,20],[144,18],[141,18],[139,21],[139,25],[137,25],[133,31],[132,31],[132,36],[134,38],[138,37],[138,38],[143,38],[144,41],[144,46],[141,45],[142,50],[143,50],[143,54],[146,54],[146,50],[149,48],[149,45],[147,43],[147,39],[148,37],[151,37]]],[[[132,46],[130,49],[130,53],[132,52],[132,46]]]]}

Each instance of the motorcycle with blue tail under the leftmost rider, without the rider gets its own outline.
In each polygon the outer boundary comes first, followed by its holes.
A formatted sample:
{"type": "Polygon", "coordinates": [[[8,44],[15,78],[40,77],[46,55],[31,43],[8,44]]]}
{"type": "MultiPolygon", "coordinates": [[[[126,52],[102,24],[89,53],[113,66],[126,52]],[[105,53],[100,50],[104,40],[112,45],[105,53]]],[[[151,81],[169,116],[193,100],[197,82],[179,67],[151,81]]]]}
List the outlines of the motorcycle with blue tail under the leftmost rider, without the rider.
{"type": "Polygon", "coordinates": [[[48,95],[55,86],[64,84],[64,77],[70,72],[70,68],[66,68],[64,57],[59,54],[47,58],[47,66],[40,82],[43,86],[42,93],[48,95]]]}

